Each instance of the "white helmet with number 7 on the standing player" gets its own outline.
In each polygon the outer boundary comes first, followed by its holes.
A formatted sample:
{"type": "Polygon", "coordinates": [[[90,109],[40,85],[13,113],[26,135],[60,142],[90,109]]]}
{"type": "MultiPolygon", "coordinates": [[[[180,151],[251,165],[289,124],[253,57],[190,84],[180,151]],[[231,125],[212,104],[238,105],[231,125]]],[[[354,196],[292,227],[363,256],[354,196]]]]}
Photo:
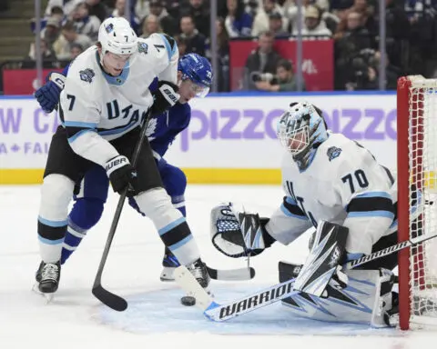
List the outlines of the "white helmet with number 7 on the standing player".
{"type": "Polygon", "coordinates": [[[131,55],[137,52],[137,34],[123,17],[107,18],[98,29],[102,53],[131,55]]]}

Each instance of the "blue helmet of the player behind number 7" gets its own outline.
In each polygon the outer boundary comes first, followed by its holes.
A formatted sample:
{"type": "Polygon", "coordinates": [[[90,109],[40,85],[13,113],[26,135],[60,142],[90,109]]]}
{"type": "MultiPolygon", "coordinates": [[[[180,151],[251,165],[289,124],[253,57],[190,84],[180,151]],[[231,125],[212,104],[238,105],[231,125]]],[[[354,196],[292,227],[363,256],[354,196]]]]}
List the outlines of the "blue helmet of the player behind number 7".
{"type": "Polygon", "coordinates": [[[182,81],[191,81],[198,97],[208,95],[213,75],[207,58],[197,54],[184,55],[179,59],[178,71],[182,73],[182,81]]]}

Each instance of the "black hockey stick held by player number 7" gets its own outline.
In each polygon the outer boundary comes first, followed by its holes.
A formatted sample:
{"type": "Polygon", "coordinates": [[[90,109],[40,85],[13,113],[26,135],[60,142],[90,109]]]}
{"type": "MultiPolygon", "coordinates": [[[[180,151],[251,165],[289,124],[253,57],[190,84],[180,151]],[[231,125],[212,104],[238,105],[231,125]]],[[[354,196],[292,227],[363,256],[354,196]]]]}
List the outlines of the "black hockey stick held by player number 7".
{"type": "MultiPolygon", "coordinates": [[[[137,141],[137,145],[134,150],[134,154],[132,155],[131,164],[135,168],[137,165],[137,160],[139,154],[141,153],[141,149],[144,143],[144,139],[146,137],[147,124],[150,116],[150,111],[147,112],[146,118],[144,120],[143,125],[141,126],[141,131],[139,135],[139,139],[137,141]]],[[[105,268],[105,264],[107,263],[107,254],[109,254],[109,249],[111,248],[112,241],[114,240],[114,235],[117,231],[118,221],[120,220],[121,211],[123,210],[123,205],[125,204],[125,199],[127,196],[127,187],[123,190],[123,193],[120,194],[118,199],[116,213],[114,214],[114,218],[112,219],[112,224],[109,229],[109,233],[107,234],[107,244],[105,244],[105,249],[103,250],[102,258],[100,260],[100,264],[98,265],[96,278],[93,284],[92,293],[96,296],[96,298],[106,304],[108,307],[117,310],[118,312],[122,312],[127,309],[127,302],[124,298],[120,297],[117,294],[113,294],[102,286],[102,274],[103,269],[105,268]]]]}

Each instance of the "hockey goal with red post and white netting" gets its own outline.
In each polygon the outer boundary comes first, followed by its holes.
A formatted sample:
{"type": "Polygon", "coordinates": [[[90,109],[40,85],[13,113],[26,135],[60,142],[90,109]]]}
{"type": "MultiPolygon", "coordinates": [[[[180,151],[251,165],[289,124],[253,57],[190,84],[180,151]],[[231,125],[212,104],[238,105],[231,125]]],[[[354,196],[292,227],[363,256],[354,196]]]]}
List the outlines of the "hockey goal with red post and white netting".
{"type": "MultiPolygon", "coordinates": [[[[437,79],[401,77],[397,91],[398,224],[405,241],[437,230],[437,79]]],[[[399,254],[400,325],[437,328],[437,238],[399,254]]]]}

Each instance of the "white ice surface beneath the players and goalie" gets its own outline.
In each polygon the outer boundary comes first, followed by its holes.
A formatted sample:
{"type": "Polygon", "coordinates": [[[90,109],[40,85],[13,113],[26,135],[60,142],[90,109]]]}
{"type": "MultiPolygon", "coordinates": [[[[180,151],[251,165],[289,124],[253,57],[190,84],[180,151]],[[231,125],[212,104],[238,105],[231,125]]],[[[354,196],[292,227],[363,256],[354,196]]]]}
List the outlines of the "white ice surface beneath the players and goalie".
{"type": "MultiPolygon", "coordinates": [[[[270,214],[281,203],[279,186],[190,185],[188,224],[203,259],[212,267],[246,264],[219,254],[209,242],[209,211],[221,201],[244,204],[270,214]]],[[[209,322],[196,307],[179,303],[176,284],[161,283],[163,245],[151,222],[128,205],[118,224],[103,284],[127,298],[117,313],[91,294],[109,225],[117,205],[110,194],[102,220],[62,269],[55,299],[31,291],[40,262],[36,239],[39,186],[0,186],[0,348],[353,348],[428,349],[437,332],[401,333],[365,326],[323,324],[293,318],[280,304],[267,306],[223,324],[209,322]]],[[[252,258],[257,271],[250,282],[213,282],[219,301],[232,300],[278,282],[279,260],[302,262],[308,236],[286,247],[275,245],[252,258]]]]}

